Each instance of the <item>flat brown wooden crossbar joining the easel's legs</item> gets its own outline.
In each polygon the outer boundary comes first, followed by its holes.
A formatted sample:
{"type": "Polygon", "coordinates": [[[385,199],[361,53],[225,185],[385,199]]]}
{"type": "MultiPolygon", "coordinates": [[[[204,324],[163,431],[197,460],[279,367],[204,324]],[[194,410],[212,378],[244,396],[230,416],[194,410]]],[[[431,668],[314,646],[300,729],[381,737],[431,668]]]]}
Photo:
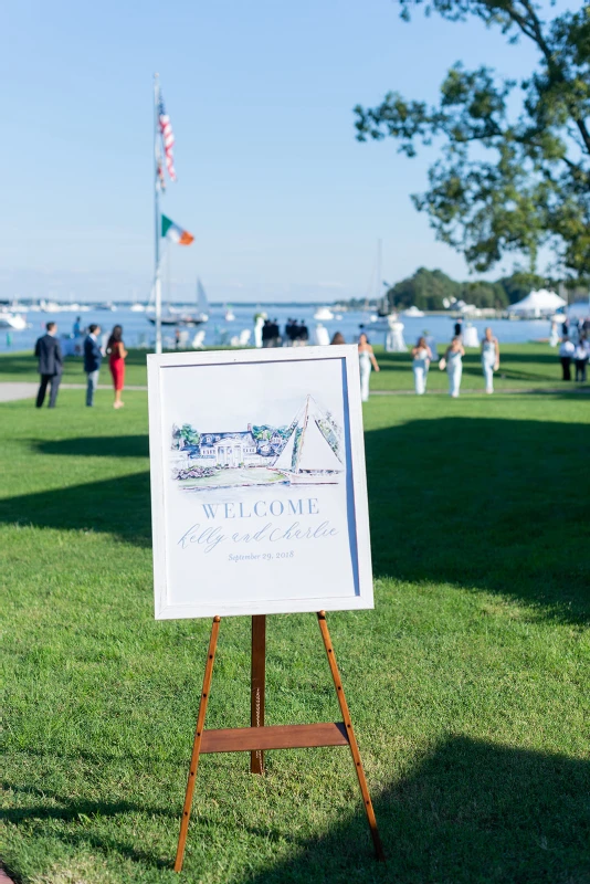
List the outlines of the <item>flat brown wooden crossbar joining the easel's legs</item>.
{"type": "Polygon", "coordinates": [[[272,727],[229,727],[221,730],[204,730],[201,738],[201,754],[348,745],[346,726],[341,722],[274,725],[272,727]]]}

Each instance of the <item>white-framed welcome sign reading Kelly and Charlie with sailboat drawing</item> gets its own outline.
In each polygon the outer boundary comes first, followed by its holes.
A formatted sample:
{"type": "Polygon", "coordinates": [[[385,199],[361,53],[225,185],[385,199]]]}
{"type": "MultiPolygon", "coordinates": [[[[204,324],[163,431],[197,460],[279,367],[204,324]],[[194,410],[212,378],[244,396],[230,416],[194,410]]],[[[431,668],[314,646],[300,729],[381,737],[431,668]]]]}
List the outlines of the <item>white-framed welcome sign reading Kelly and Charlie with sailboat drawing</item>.
{"type": "Polygon", "coordinates": [[[156,618],[372,608],[354,346],[148,356],[156,618]]]}

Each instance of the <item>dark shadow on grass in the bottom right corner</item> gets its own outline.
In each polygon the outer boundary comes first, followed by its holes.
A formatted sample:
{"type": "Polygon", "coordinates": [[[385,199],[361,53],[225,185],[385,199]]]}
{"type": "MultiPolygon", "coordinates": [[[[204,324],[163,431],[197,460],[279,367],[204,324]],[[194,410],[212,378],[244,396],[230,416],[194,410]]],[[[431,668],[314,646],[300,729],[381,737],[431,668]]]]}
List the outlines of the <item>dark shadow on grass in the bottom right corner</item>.
{"type": "Polygon", "coordinates": [[[590,880],[590,761],[450,738],[362,811],[251,884],[582,884],[590,880]]]}

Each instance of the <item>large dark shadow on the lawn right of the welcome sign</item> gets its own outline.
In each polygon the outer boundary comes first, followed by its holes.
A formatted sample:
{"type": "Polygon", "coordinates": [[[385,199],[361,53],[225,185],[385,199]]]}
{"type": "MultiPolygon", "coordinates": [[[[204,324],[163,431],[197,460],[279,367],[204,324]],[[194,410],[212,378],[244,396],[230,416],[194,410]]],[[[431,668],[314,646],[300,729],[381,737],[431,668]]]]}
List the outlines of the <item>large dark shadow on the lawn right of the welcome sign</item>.
{"type": "Polygon", "coordinates": [[[588,622],[588,432],[471,418],[367,432],[375,573],[501,592],[588,622]]]}

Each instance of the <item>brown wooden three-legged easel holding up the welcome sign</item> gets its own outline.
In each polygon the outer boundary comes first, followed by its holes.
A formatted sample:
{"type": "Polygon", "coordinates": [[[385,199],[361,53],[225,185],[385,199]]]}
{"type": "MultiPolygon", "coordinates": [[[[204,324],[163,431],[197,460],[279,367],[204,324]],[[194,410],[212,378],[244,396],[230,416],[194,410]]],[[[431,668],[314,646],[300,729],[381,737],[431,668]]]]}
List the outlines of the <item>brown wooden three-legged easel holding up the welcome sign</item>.
{"type": "Polygon", "coordinates": [[[360,760],[357,739],[350,720],[350,713],[346,702],[340,673],[336,664],[336,655],[331,646],[331,640],[326,623],[326,612],[319,611],[317,614],[322,638],[328,663],[336,687],[336,695],[343,714],[343,722],[330,722],[327,724],[315,725],[277,725],[273,727],[264,726],[264,684],[265,684],[265,656],[266,656],[266,615],[256,614],[252,618],[252,680],[251,680],[251,711],[250,727],[224,728],[222,730],[206,730],[204,716],[207,714],[207,703],[211,688],[211,677],[213,675],[213,663],[215,660],[215,649],[218,644],[220,617],[213,618],[211,627],[211,638],[209,640],[209,651],[204,667],[203,690],[201,702],[199,703],[199,715],[197,717],[197,729],[194,732],[194,743],[190,758],[189,779],[182,820],[180,822],[180,835],[176,852],[175,872],[182,871],[185,859],[185,846],[189,829],[190,811],[192,807],[192,796],[194,792],[194,781],[197,779],[197,768],[199,757],[203,753],[250,753],[250,771],[252,774],[264,772],[264,750],[265,749],[299,749],[316,746],[349,746],[355,770],[357,771],[365,812],[371,830],[375,853],[378,860],[384,862],[383,846],[377,829],[377,820],[372,809],[367,779],[360,760]]]}

